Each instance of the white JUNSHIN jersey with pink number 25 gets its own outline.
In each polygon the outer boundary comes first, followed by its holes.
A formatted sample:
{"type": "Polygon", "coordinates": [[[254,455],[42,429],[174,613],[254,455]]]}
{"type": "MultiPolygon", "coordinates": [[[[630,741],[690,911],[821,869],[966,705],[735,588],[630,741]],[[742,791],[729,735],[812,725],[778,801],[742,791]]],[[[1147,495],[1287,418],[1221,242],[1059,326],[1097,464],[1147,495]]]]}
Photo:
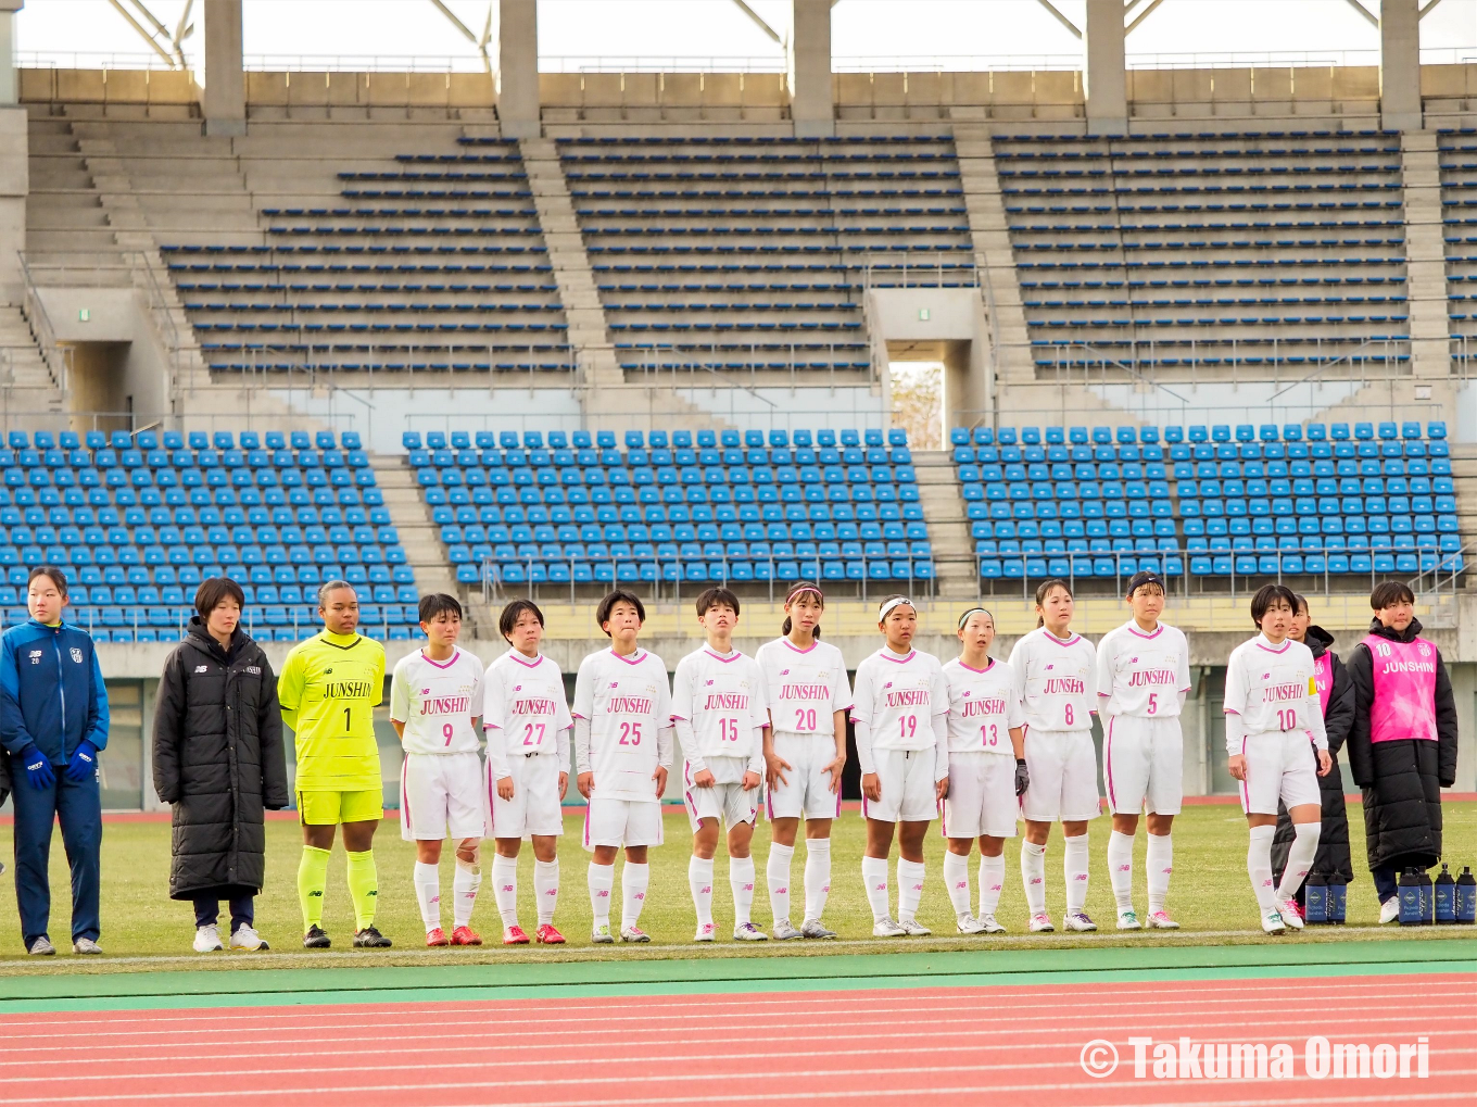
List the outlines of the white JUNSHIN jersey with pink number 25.
{"type": "Polygon", "coordinates": [[[592,795],[656,803],[653,777],[672,727],[672,689],[662,659],[642,649],[629,658],[613,649],[591,653],[575,677],[573,715],[589,720],[592,795]]]}

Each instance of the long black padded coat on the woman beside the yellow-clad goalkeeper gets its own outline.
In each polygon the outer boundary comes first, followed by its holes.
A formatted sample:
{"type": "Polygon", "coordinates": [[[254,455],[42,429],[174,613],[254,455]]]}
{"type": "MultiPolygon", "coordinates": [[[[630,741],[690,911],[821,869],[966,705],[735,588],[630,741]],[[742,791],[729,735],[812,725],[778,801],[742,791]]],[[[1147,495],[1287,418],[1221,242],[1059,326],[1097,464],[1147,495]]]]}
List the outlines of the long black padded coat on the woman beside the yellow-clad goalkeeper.
{"type": "Polygon", "coordinates": [[[288,805],[276,677],[239,627],[229,652],[196,615],[154,706],[154,788],[174,805],[170,897],[257,893],[264,810],[288,805]]]}

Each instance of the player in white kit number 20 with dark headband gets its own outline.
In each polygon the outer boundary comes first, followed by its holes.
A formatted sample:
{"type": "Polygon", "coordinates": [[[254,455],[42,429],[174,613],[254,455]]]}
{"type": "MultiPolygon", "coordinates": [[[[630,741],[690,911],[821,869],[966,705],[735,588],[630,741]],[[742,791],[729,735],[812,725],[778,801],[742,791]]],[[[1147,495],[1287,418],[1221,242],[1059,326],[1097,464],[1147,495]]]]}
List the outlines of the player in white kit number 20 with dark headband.
{"type": "Polygon", "coordinates": [[[840,816],[851,681],[840,650],[820,640],[824,610],[818,585],[792,585],[784,597],[783,637],[755,653],[770,693],[764,760],[771,844],[765,878],[778,941],[836,937],[821,924],[821,912],[830,894],[830,828],[840,816]],[[802,816],[805,916],[796,930],[790,922],[790,862],[802,816]]]}

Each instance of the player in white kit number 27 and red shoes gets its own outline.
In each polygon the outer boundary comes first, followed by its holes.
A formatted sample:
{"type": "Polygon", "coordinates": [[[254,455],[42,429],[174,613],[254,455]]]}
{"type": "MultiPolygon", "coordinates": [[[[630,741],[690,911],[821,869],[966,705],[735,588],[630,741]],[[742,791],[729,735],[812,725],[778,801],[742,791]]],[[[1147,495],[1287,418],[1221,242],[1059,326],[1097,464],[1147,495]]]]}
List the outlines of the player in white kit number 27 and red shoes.
{"type": "Polygon", "coordinates": [[[533,893],[539,925],[533,940],[560,946],[554,927],[558,906],[560,804],[569,789],[569,732],[575,726],[564,702],[564,674],[539,652],[544,612],[532,600],[514,600],[498,616],[510,649],[487,667],[483,681],[483,727],[487,729],[487,810],[498,842],[492,857],[492,890],[502,915],[502,944],[526,946],[518,925],[518,851],[533,841],[533,893]],[[496,727],[496,732],[493,732],[496,727]]]}

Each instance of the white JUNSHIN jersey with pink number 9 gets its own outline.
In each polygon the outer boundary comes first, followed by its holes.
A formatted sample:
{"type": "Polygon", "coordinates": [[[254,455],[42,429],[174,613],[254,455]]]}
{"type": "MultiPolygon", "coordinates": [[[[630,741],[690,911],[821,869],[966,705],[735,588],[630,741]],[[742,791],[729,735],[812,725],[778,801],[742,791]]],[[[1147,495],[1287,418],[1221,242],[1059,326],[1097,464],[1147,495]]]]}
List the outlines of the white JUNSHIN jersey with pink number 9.
{"type": "Polygon", "coordinates": [[[476,754],[482,742],[471,720],[482,714],[482,661],[465,650],[446,661],[422,650],[400,658],[390,677],[390,718],[405,723],[405,752],[476,754]]]}

